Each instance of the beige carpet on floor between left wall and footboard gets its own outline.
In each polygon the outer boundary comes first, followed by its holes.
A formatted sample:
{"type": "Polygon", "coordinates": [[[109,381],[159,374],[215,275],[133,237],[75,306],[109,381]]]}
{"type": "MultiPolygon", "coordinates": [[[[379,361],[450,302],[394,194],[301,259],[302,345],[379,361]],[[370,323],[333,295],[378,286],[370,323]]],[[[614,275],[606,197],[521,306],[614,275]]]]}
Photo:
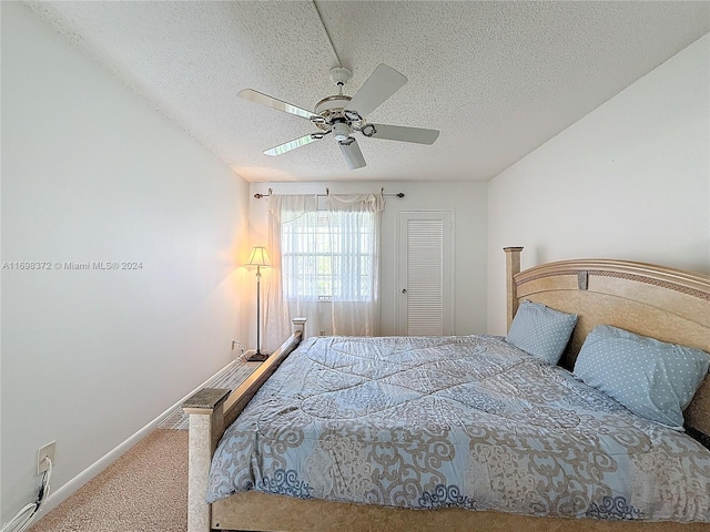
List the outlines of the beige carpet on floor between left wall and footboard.
{"type": "Polygon", "coordinates": [[[187,431],[158,429],[29,532],[180,532],[187,528],[187,431]]]}

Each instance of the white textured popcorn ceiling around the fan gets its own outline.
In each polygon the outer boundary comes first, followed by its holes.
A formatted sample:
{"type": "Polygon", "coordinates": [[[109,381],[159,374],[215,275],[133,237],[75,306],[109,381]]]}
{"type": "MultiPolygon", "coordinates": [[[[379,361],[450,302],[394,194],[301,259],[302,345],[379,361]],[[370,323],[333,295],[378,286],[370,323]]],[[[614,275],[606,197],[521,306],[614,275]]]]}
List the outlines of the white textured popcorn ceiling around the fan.
{"type": "Polygon", "coordinates": [[[26,2],[247,181],[495,176],[710,31],[710,2],[26,2]],[[317,8],[317,9],[316,9],[317,8]],[[378,63],[408,83],[367,116],[440,130],[434,145],[358,136],[270,157],[306,120],[236,96],[246,88],[312,110],[353,95],[378,63]]]}

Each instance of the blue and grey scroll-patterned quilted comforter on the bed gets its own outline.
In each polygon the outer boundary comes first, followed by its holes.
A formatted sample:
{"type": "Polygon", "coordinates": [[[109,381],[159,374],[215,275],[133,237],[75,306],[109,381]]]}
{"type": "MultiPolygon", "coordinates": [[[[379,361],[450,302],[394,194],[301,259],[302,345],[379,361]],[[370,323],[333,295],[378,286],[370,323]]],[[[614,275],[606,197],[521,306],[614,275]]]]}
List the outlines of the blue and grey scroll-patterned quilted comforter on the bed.
{"type": "Polygon", "coordinates": [[[246,490],[710,522],[710,451],[498,337],[311,338],[219,444],[207,502],[246,490]]]}

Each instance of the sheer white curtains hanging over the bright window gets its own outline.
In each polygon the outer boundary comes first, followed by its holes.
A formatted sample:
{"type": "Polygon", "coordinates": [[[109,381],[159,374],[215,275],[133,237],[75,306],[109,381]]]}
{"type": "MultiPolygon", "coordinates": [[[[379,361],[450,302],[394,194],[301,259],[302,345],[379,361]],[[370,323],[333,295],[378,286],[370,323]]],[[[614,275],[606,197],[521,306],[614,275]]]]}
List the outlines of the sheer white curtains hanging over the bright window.
{"type": "Polygon", "coordinates": [[[264,350],[291,335],[303,316],[306,336],[376,336],[379,325],[379,226],[374,194],[271,195],[264,350]],[[329,327],[327,327],[329,325],[329,327]]]}

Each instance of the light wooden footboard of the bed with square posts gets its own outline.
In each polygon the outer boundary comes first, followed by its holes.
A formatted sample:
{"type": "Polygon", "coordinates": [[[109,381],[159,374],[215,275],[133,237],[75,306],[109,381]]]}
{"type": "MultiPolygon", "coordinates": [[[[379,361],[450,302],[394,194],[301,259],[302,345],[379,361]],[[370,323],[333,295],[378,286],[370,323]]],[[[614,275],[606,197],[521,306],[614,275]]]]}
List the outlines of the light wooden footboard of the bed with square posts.
{"type": "Polygon", "coordinates": [[[187,532],[211,530],[211,507],[205,503],[212,456],[226,428],[261,386],[301,342],[305,318],[294,318],[294,332],[233,392],[204,388],[183,403],[190,416],[187,532]]]}

